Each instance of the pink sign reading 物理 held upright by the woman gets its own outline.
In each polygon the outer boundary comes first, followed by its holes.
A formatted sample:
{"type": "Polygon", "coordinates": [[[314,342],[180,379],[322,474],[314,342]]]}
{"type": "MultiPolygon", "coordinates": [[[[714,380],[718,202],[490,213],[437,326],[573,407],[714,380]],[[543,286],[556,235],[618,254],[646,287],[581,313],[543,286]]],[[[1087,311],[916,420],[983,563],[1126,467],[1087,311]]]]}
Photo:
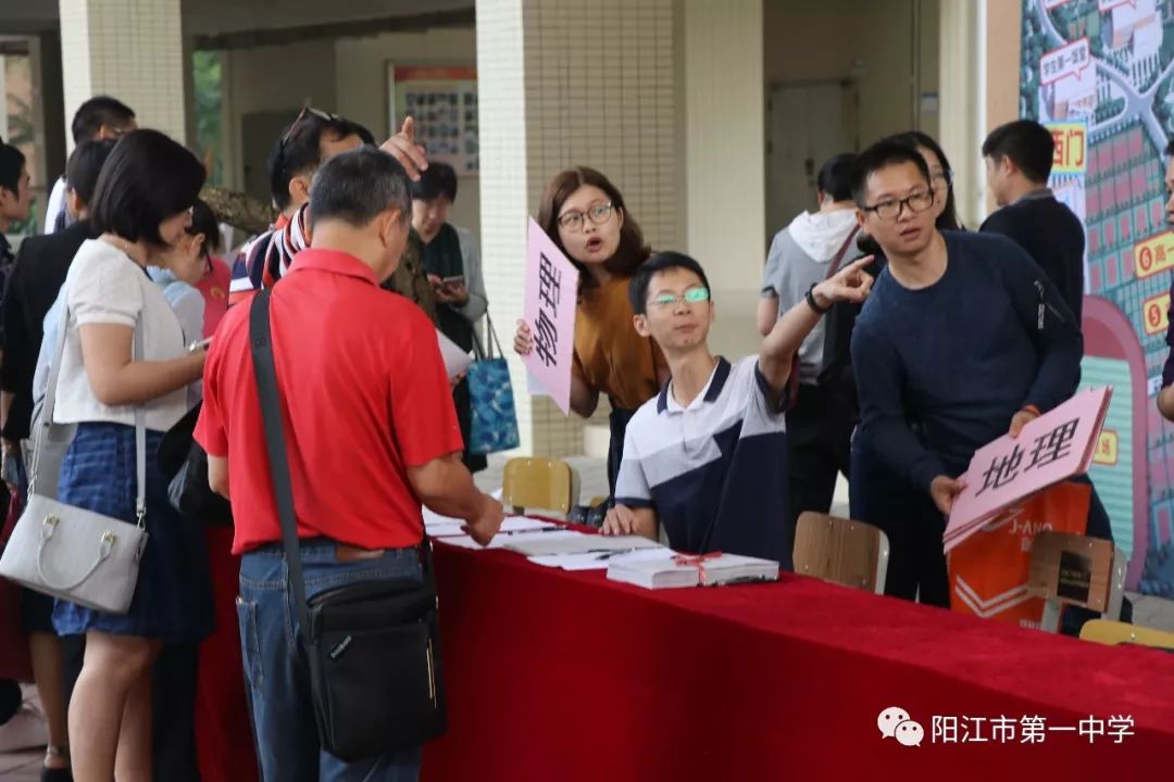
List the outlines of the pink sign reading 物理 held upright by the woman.
{"type": "Polygon", "coordinates": [[[564,413],[571,412],[579,271],[533,219],[526,245],[526,305],[534,349],[522,359],[564,413]]]}

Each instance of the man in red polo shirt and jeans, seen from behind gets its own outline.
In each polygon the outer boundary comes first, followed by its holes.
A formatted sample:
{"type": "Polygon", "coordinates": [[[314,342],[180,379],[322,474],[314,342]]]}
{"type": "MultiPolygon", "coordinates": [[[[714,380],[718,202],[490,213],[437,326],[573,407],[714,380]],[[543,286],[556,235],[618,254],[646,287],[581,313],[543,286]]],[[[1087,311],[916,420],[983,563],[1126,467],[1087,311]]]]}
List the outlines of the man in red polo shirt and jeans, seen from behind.
{"type": "MultiPolygon", "coordinates": [[[[478,491],[436,331],[379,281],[396,268],[411,224],[407,175],[362,148],[313,179],[313,246],[297,257],[270,301],[290,478],[306,598],[324,589],[420,577],[420,504],[468,522],[488,543],[501,504],[478,491]]],[[[292,641],[281,523],[248,338],[249,308],[221,322],[204,372],[196,440],[209,483],[232,502],[245,679],[263,776],[283,782],[416,778],[414,748],[344,762],[318,746],[309,682],[292,641]]]]}

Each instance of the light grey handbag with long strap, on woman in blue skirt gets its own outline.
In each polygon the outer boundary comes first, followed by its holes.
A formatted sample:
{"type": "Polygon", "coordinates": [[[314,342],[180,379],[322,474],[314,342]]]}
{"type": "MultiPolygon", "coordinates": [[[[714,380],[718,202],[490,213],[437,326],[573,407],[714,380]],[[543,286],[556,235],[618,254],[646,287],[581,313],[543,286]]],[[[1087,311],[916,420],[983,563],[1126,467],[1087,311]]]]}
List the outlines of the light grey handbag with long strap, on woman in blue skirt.
{"type": "MultiPolygon", "coordinates": [[[[136,524],[56,499],[58,471],[73,441],[73,424],[53,422],[58,375],[68,333],[69,308],[58,329],[45,406],[34,427],[28,502],[0,557],[0,576],[35,592],[77,605],[127,613],[147,545],[147,420],[135,406],[136,524]],[[46,480],[40,480],[42,478],[46,480]],[[48,487],[46,489],[46,487],[48,487]]],[[[142,361],[142,320],[135,324],[135,360],[142,361]]]]}

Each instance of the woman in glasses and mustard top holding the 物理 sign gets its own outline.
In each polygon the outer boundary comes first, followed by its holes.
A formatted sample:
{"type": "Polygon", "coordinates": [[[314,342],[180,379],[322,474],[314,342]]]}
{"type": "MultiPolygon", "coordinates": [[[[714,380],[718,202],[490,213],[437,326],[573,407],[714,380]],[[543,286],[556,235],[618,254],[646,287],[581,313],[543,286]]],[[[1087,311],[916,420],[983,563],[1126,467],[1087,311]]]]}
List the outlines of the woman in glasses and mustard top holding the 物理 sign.
{"type": "MultiPolygon", "coordinates": [[[[628,281],[652,251],[619,189],[587,166],[562,171],[546,185],[538,223],[579,270],[571,409],[589,417],[600,393],[607,394],[612,403],[607,481],[614,496],[628,421],[668,379],[660,348],[632,325],[628,299],[628,281]]],[[[533,349],[529,324],[518,321],[514,351],[527,355],[533,349]]]]}

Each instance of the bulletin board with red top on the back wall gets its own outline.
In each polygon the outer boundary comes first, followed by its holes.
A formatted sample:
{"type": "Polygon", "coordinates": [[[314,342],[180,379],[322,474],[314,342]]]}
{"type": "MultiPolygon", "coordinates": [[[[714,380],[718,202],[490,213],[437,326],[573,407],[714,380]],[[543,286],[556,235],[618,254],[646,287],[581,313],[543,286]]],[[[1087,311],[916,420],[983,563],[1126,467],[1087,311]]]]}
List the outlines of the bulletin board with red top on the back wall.
{"type": "Polygon", "coordinates": [[[480,170],[477,68],[387,63],[390,127],[416,118],[416,140],[429,159],[447,163],[457,176],[480,170]]]}

